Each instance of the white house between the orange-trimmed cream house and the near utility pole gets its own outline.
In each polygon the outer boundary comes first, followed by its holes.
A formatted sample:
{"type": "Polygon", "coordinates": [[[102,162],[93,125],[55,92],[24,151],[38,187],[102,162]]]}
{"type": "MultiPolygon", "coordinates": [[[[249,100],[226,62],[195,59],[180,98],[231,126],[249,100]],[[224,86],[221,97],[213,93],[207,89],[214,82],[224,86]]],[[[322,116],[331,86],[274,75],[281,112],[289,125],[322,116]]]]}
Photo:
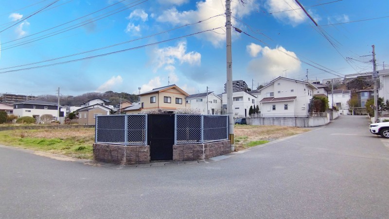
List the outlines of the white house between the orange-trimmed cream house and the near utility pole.
{"type": "Polygon", "coordinates": [[[222,110],[222,99],[214,94],[213,91],[208,92],[208,98],[207,93],[189,95],[186,97],[186,104],[190,108],[199,109],[203,115],[220,115],[222,110]]]}

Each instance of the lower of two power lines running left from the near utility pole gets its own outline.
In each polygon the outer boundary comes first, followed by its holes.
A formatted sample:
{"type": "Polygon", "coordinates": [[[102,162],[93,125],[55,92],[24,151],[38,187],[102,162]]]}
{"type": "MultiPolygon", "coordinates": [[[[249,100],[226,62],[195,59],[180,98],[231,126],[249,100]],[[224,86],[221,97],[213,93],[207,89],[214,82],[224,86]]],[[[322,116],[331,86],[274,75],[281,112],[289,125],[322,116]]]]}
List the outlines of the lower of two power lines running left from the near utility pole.
{"type": "Polygon", "coordinates": [[[92,58],[112,55],[112,54],[116,54],[116,53],[120,53],[120,52],[124,52],[124,51],[137,50],[137,49],[141,49],[141,48],[144,48],[144,47],[154,46],[154,45],[158,45],[160,43],[165,43],[165,42],[169,42],[169,41],[172,41],[172,40],[176,40],[176,39],[192,36],[192,35],[195,35],[195,34],[201,34],[201,33],[205,33],[205,32],[208,32],[208,31],[217,30],[217,29],[220,29],[220,28],[222,28],[222,27],[213,28],[213,29],[209,29],[209,30],[206,30],[206,31],[200,31],[200,32],[197,32],[197,33],[194,33],[194,34],[187,34],[187,35],[183,35],[183,36],[178,36],[178,37],[175,37],[175,38],[171,38],[171,39],[167,39],[167,40],[162,40],[162,41],[159,41],[159,42],[150,43],[150,44],[146,44],[146,45],[142,45],[142,46],[138,46],[138,47],[133,47],[133,48],[124,49],[124,50],[120,50],[120,51],[108,52],[108,53],[104,53],[104,54],[100,54],[100,55],[94,55],[94,56],[89,56],[89,57],[80,58],[80,59],[73,59],[73,60],[69,60],[69,61],[65,61],[65,62],[53,63],[53,64],[48,64],[48,65],[43,65],[43,66],[20,68],[20,69],[15,69],[15,70],[8,70],[8,71],[1,71],[0,74],[9,73],[9,72],[16,72],[16,71],[22,71],[22,70],[30,70],[30,69],[41,68],[41,67],[50,67],[50,66],[62,65],[62,64],[67,64],[67,63],[71,63],[71,62],[78,62],[78,61],[83,61],[83,60],[87,60],[87,59],[92,59],[92,58]]]}

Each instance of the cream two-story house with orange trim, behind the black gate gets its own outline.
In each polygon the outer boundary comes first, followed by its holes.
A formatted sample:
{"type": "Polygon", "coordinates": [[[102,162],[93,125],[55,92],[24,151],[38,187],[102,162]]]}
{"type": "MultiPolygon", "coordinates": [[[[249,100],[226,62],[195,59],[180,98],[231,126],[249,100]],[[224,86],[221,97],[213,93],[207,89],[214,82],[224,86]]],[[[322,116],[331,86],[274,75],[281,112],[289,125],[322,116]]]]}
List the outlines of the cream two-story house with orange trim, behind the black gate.
{"type": "Polygon", "coordinates": [[[177,108],[186,107],[185,98],[189,94],[176,84],[172,84],[154,88],[153,90],[141,93],[139,96],[141,110],[162,109],[173,113],[177,108]]]}

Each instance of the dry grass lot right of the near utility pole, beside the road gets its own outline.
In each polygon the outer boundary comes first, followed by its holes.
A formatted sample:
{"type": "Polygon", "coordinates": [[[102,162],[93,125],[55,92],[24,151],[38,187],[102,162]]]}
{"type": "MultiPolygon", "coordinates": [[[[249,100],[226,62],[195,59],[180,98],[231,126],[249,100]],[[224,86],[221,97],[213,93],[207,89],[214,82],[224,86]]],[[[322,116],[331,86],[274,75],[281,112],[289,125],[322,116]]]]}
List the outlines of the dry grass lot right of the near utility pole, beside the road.
{"type": "Polygon", "coordinates": [[[310,129],[274,126],[274,125],[235,125],[235,151],[246,149],[250,142],[273,141],[290,135],[297,135],[309,131],[310,129]]]}

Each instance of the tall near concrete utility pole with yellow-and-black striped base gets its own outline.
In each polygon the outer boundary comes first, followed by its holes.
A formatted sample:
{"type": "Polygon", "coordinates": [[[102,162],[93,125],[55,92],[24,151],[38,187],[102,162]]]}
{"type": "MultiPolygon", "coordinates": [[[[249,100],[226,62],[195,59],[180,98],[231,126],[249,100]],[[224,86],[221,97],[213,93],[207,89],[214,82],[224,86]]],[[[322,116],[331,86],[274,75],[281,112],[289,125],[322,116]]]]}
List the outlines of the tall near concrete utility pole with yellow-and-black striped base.
{"type": "Polygon", "coordinates": [[[231,152],[235,151],[234,145],[234,118],[232,102],[232,51],[231,51],[231,0],[226,0],[226,49],[227,49],[227,115],[229,127],[229,139],[231,152]]]}

